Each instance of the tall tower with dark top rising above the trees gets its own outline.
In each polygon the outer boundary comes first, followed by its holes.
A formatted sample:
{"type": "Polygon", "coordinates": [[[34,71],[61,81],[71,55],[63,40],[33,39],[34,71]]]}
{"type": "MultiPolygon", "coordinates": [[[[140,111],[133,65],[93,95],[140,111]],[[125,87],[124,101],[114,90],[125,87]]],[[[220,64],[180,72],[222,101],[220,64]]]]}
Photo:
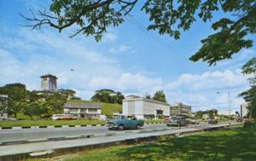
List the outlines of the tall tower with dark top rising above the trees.
{"type": "Polygon", "coordinates": [[[41,89],[55,91],[57,89],[57,77],[51,74],[43,75],[41,78],[41,89]]]}

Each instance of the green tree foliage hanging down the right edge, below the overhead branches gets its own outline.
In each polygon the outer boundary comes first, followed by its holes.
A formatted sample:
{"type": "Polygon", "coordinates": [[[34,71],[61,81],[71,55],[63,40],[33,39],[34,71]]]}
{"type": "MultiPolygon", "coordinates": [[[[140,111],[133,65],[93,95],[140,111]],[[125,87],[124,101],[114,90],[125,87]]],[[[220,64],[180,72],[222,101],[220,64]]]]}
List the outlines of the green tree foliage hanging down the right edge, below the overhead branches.
{"type": "Polygon", "coordinates": [[[242,96],[244,100],[248,102],[248,115],[252,118],[256,118],[256,57],[242,66],[241,70],[243,74],[253,75],[253,78],[248,78],[251,88],[242,92],[239,96],[242,96]]]}

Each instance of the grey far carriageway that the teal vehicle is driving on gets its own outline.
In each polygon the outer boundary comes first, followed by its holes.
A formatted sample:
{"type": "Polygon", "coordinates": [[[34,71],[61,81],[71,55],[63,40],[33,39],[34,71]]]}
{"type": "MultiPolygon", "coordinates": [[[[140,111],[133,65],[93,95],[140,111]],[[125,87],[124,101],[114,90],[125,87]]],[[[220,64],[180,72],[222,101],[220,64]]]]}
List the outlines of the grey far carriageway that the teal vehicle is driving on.
{"type": "MultiPolygon", "coordinates": [[[[226,123],[220,123],[226,124],[226,123]]],[[[200,124],[205,126],[207,124],[200,124]]],[[[189,125],[189,127],[198,125],[189,125]]],[[[143,129],[177,129],[176,127],[166,127],[166,124],[148,124],[143,129]]],[[[140,129],[138,129],[140,130],[140,129]]],[[[132,131],[132,130],[131,130],[132,131]]],[[[120,133],[122,131],[114,131],[120,133]]],[[[3,141],[20,141],[20,140],[35,140],[46,139],[51,137],[65,137],[76,135],[97,135],[108,134],[113,131],[108,130],[108,127],[81,127],[81,128],[60,128],[60,129],[4,129],[0,130],[0,142],[3,141]]]]}

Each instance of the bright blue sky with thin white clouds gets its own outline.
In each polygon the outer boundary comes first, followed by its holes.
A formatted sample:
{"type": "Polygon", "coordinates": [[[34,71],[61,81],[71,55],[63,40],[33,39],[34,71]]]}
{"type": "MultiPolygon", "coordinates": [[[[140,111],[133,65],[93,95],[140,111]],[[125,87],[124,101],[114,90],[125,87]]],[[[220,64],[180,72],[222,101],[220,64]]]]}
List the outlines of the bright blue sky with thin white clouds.
{"type": "MultiPolygon", "coordinates": [[[[179,40],[160,36],[144,30],[150,22],[140,11],[141,2],[122,25],[108,27],[99,43],[84,35],[69,38],[74,27],[59,33],[49,26],[33,31],[20,26],[28,24],[20,13],[49,9],[50,2],[0,1],[0,86],[25,83],[27,89],[40,89],[39,77],[50,73],[58,78],[58,89],[74,89],[84,100],[97,89],[140,96],[163,89],[169,103],[183,102],[194,112],[215,108],[220,113],[228,112],[230,87],[231,112],[240,111],[244,101],[237,95],[249,88],[241,66],[255,56],[255,43],[217,66],[192,62],[189,57],[200,49],[201,39],[213,33],[211,23],[197,19],[179,40]]],[[[212,21],[223,15],[215,13],[212,21]]]]}

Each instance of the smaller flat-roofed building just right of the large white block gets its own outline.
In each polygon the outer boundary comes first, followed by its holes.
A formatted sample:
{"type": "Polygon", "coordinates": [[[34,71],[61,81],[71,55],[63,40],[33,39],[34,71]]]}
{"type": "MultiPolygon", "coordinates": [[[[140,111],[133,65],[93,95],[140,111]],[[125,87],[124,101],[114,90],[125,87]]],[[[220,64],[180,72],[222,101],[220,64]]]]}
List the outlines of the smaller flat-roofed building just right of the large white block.
{"type": "Polygon", "coordinates": [[[170,105],[170,115],[184,115],[191,116],[191,106],[184,105],[183,103],[173,103],[170,105]]]}

